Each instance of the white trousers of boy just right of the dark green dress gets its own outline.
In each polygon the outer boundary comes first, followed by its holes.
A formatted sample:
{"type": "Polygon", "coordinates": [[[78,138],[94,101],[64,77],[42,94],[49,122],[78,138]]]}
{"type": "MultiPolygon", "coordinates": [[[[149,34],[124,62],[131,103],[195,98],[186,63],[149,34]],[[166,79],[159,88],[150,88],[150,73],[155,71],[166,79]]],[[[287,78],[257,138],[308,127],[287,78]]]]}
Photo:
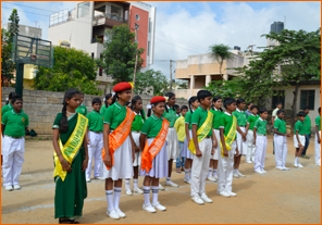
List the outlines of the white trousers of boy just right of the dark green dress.
{"type": "Polygon", "coordinates": [[[89,130],[88,133],[88,166],[86,168],[86,178],[90,178],[92,161],[94,163],[94,177],[100,177],[100,170],[102,164],[102,149],[103,149],[103,134],[97,134],[89,130]]]}

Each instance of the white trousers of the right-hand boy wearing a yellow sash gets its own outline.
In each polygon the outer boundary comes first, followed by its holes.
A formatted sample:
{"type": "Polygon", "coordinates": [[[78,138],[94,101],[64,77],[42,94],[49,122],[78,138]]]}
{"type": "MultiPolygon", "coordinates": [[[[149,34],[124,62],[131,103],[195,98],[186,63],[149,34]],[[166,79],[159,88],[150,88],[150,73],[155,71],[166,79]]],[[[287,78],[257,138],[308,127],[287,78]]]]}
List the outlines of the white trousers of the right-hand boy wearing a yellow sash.
{"type": "MultiPolygon", "coordinates": [[[[234,140],[228,157],[219,155],[218,162],[218,192],[232,192],[234,154],[236,153],[237,141],[234,140]]],[[[195,163],[195,162],[194,162],[195,163]]]]}

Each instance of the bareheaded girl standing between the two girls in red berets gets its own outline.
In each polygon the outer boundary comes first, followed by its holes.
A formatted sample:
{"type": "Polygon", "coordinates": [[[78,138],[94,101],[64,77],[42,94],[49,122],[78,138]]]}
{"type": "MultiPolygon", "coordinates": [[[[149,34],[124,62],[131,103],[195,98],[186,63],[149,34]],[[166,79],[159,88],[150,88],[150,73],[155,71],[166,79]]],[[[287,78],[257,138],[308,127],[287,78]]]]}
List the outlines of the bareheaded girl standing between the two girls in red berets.
{"type": "MultiPolygon", "coordinates": [[[[133,192],[136,193],[143,193],[144,191],[138,188],[138,170],[140,166],[141,162],[141,153],[143,151],[139,148],[139,136],[140,136],[140,130],[143,128],[143,125],[145,124],[146,121],[146,113],[143,109],[143,99],[139,96],[135,96],[132,99],[132,111],[135,113],[134,121],[132,123],[131,132],[132,132],[132,138],[135,143],[134,146],[134,151],[135,151],[135,160],[133,163],[133,192]]],[[[125,192],[127,196],[132,196],[132,190],[129,186],[129,180],[131,179],[125,179],[125,192]]]]}

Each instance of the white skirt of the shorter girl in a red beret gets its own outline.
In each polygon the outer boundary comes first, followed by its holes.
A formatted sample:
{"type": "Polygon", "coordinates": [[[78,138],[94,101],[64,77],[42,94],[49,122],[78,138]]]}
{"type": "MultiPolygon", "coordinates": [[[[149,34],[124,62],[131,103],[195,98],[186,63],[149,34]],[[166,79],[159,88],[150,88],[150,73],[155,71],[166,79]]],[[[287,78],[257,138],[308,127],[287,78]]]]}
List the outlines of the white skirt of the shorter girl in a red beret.
{"type": "MultiPolygon", "coordinates": [[[[154,138],[148,138],[148,145],[150,146],[154,138]]],[[[164,178],[168,177],[168,152],[166,152],[166,141],[162,146],[161,150],[152,160],[152,168],[149,172],[146,170],[139,170],[140,176],[150,176],[156,178],[164,178]]]]}

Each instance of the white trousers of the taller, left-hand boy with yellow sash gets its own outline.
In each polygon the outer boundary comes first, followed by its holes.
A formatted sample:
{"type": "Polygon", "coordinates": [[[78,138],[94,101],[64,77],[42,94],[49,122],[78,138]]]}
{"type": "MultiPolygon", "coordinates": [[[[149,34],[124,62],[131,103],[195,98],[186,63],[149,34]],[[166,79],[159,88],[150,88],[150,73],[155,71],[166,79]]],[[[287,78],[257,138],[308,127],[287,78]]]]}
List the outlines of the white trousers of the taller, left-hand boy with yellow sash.
{"type": "Polygon", "coordinates": [[[206,189],[206,178],[209,170],[209,161],[212,149],[211,138],[205,138],[199,142],[201,157],[194,154],[194,163],[191,167],[191,196],[202,195],[206,189]]]}

